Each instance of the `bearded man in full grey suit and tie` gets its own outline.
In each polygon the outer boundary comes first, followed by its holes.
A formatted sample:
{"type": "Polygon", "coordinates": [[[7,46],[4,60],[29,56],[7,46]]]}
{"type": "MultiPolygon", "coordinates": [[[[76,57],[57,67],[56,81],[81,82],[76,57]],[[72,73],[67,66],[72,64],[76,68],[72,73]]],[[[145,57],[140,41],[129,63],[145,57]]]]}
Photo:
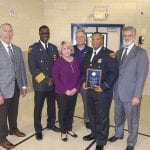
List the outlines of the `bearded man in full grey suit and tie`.
{"type": "Polygon", "coordinates": [[[135,37],[134,27],[123,29],[124,48],[117,51],[119,78],[114,86],[115,135],[109,139],[115,142],[123,138],[127,119],[129,136],[126,150],[133,150],[137,142],[140,103],[149,65],[146,51],[134,44],[135,37]]]}

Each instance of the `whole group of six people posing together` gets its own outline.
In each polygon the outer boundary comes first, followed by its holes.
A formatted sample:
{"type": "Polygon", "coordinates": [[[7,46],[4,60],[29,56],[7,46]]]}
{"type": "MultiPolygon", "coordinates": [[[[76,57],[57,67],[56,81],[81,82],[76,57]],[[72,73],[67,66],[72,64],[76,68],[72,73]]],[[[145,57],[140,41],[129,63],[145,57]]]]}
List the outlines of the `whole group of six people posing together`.
{"type": "MultiPolygon", "coordinates": [[[[73,116],[78,93],[84,105],[84,122],[91,133],[83,140],[96,140],[95,150],[103,150],[109,142],[123,139],[125,120],[129,136],[126,150],[133,150],[137,142],[140,103],[148,72],[148,56],[135,45],[136,29],[125,27],[122,31],[124,47],[114,53],[103,46],[103,36],[92,34],[92,47],[87,46],[86,33],[76,31],[76,45],[62,41],[59,50],[49,43],[50,30],[39,28],[40,40],[28,50],[28,64],[34,89],[34,129],[36,139],[42,140],[41,115],[47,100],[47,129],[61,132],[61,140],[73,132],[73,116]],[[87,70],[101,71],[100,84],[87,86],[87,70]],[[109,111],[115,100],[115,135],[109,136],[109,111]],[[58,104],[59,127],[55,125],[58,104]]],[[[11,149],[14,145],[7,135],[23,137],[17,127],[20,93],[27,93],[27,79],[21,49],[12,44],[13,28],[9,23],[0,26],[0,146],[11,149]],[[8,128],[9,125],[9,128],[8,128]]]]}

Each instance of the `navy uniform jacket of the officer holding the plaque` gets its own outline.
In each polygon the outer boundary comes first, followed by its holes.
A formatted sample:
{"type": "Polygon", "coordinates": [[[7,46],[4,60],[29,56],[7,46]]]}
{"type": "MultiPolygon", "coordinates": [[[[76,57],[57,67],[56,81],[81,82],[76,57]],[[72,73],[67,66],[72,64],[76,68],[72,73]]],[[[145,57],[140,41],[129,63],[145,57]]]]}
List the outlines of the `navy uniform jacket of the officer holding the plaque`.
{"type": "Polygon", "coordinates": [[[93,51],[86,53],[83,59],[84,81],[86,80],[86,71],[88,68],[101,69],[101,88],[104,91],[111,90],[119,74],[118,61],[115,53],[105,47],[102,47],[97,54],[94,62],[90,62],[93,51]]]}

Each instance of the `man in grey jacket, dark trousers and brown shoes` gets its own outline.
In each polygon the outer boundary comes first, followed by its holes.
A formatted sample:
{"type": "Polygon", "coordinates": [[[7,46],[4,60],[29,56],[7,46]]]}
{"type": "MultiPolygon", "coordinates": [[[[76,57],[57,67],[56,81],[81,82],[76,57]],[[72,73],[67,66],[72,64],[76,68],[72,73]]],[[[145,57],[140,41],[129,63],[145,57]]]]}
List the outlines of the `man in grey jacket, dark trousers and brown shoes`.
{"type": "Polygon", "coordinates": [[[0,146],[14,147],[6,136],[23,137],[17,128],[20,92],[27,93],[27,79],[21,49],[12,44],[13,28],[9,23],[0,26],[0,146]],[[9,130],[7,126],[9,124],[9,130]]]}

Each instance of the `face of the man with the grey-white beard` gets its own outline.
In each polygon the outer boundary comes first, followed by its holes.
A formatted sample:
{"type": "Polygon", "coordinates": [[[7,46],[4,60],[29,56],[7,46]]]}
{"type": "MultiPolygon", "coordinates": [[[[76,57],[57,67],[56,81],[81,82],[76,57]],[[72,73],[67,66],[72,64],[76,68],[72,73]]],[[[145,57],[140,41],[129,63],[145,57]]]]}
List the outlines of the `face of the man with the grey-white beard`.
{"type": "Polygon", "coordinates": [[[135,34],[132,31],[123,32],[123,44],[128,47],[135,41],[135,34]]]}

